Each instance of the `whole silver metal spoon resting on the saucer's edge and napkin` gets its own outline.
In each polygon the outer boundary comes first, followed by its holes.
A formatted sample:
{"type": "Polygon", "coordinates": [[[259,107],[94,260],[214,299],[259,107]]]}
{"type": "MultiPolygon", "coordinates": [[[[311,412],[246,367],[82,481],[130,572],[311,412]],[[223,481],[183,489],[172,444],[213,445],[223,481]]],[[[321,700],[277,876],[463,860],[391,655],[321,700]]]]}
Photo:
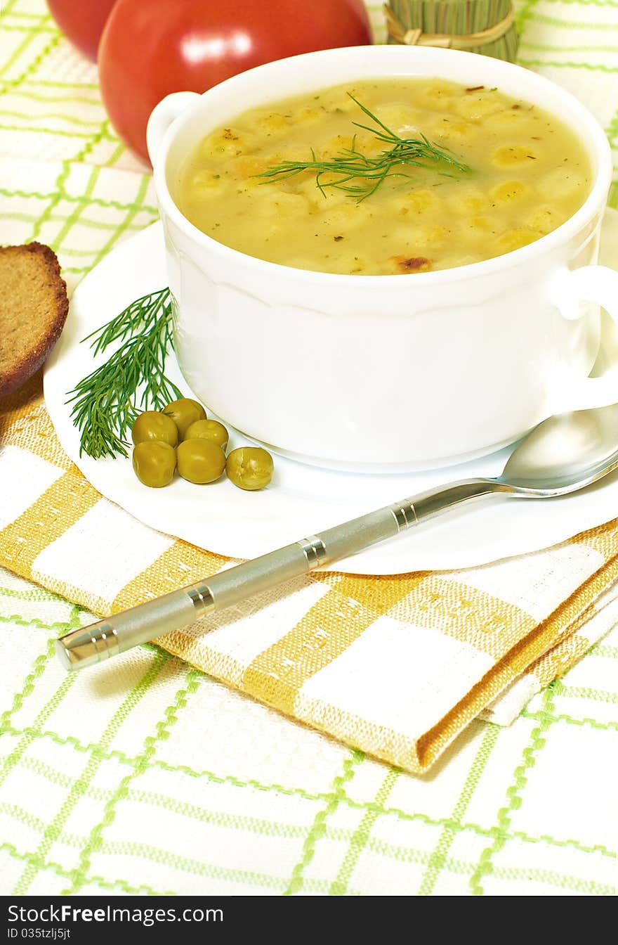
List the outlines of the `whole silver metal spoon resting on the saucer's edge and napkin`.
{"type": "Polygon", "coordinates": [[[66,669],[90,666],[393,538],[468,499],[494,492],[526,499],[553,498],[584,489],[617,468],[618,404],[550,417],[520,441],[500,476],[463,479],[422,492],[90,627],[72,630],[58,640],[58,656],[66,669]]]}

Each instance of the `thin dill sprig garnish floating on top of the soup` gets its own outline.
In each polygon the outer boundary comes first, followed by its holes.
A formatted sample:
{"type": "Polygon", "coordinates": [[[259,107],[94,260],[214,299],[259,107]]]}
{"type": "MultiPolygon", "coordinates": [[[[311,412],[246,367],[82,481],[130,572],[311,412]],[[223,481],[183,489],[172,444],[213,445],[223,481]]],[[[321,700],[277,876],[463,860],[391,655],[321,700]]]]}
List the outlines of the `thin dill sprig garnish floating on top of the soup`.
{"type": "Polygon", "coordinates": [[[267,168],[256,177],[266,178],[263,183],[274,183],[279,180],[288,180],[303,171],[315,172],[315,183],[318,190],[326,197],[326,187],[334,187],[337,190],[345,191],[353,197],[361,200],[371,197],[376,193],[377,188],[387,179],[387,177],[410,177],[405,171],[399,170],[402,165],[414,167],[431,167],[431,165],[442,165],[442,170],[437,173],[443,177],[454,177],[446,169],[451,167],[459,173],[467,173],[470,167],[461,163],[453,157],[449,148],[439,147],[429,141],[421,133],[419,138],[401,138],[393,129],[390,129],[384,122],[368,108],[359,102],[351,92],[347,93],[352,101],[356,102],[375,127],[363,125],[360,122],[352,122],[359,129],[370,131],[374,137],[383,142],[386,147],[374,157],[362,154],[357,147],[357,135],[352,138],[352,146],[342,148],[334,158],[320,159],[316,156],[315,150],[310,149],[311,158],[309,161],[282,161],[267,168]],[[324,180],[325,176],[334,176],[333,180],[324,180]],[[364,183],[353,183],[355,180],[363,180],[364,183]]]}

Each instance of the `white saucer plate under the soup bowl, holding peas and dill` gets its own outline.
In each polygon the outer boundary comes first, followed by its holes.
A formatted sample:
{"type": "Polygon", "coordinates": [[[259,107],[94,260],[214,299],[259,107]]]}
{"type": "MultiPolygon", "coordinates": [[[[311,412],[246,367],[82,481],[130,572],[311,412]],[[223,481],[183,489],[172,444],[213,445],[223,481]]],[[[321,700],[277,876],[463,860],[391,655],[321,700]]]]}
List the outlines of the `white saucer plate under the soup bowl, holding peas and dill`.
{"type": "MultiPolygon", "coordinates": [[[[618,268],[615,211],[608,211],[603,224],[602,256],[606,266],[618,268]]],[[[502,472],[510,448],[438,471],[376,474],[333,472],[276,456],[273,483],[259,492],[239,490],[225,478],[208,486],[175,478],[166,489],[153,490],[136,479],[130,458],[80,456],[67,391],[109,356],[104,352],[93,358],[88,343],[80,344],[80,339],[129,302],[164,287],[164,273],[159,223],[112,250],[75,289],[65,330],[44,373],[45,402],[64,450],[96,490],[140,522],[229,558],[255,558],[416,492],[502,472]]],[[[615,362],[618,341],[609,319],[604,327],[602,356],[615,362]]],[[[192,396],[173,354],[166,373],[192,396]]],[[[230,449],[250,442],[230,429],[230,449]]],[[[330,570],[395,575],[472,567],[538,551],[617,514],[618,475],[561,499],[517,501],[493,496],[345,558],[330,570]]]]}

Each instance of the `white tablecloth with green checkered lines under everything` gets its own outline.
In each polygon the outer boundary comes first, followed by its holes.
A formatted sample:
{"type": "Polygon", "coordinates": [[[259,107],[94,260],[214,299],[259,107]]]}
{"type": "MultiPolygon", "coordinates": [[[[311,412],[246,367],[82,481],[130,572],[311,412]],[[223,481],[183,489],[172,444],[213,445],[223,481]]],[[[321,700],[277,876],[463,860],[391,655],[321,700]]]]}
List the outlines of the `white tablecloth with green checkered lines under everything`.
{"type": "MultiPolygon", "coordinates": [[[[0,243],[48,243],[75,285],[156,219],[152,185],[42,0],[1,6],[0,243]]],[[[522,64],[618,146],[617,0],[517,13],[522,64]]],[[[0,572],[1,893],[615,892],[617,630],[414,778],[153,647],[66,676],[53,642],[91,619],[0,572]]]]}

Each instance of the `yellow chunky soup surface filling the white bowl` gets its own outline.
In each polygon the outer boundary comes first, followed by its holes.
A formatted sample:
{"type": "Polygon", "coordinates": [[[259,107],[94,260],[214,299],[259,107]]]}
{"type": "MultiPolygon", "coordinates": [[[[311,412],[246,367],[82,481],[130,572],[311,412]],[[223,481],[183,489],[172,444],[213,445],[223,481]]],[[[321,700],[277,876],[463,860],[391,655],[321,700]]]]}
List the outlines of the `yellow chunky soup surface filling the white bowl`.
{"type": "Polygon", "coordinates": [[[574,132],[535,105],[395,78],[243,112],[195,147],[175,201],[259,259],[392,275],[526,246],[573,215],[591,182],[574,132]]]}

